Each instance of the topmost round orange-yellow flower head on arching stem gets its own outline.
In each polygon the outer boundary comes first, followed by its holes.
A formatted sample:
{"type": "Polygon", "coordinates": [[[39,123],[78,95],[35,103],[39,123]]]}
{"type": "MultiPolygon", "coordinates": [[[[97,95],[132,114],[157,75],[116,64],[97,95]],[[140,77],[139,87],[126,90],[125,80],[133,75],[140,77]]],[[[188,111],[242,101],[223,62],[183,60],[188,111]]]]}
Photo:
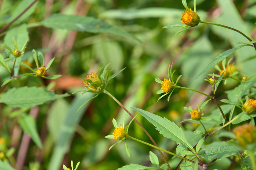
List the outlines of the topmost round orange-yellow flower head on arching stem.
{"type": "Polygon", "coordinates": [[[198,16],[198,14],[196,14],[196,12],[189,9],[184,11],[180,20],[183,24],[194,27],[199,24],[200,17],[198,16]]]}

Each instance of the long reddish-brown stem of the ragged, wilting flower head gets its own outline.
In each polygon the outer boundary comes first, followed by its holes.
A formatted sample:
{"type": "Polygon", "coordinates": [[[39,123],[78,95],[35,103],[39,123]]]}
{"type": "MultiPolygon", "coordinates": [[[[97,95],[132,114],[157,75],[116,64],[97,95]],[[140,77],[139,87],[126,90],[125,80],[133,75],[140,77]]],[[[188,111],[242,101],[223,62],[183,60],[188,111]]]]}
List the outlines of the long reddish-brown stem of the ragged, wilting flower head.
{"type": "MultiPolygon", "coordinates": [[[[103,90],[103,93],[106,93],[107,95],[109,95],[112,99],[114,99],[114,101],[116,101],[116,103],[118,103],[118,105],[120,105],[124,111],[126,111],[126,113],[128,113],[130,115],[130,117],[134,118],[134,116],[122,105],[122,103],[120,103],[113,95],[111,95],[108,91],[106,91],[105,89],[103,90]]],[[[156,142],[154,141],[154,139],[150,136],[150,134],[148,133],[148,131],[136,120],[134,119],[134,121],[142,128],[142,130],[148,135],[148,137],[150,138],[150,140],[153,142],[153,144],[157,146],[156,142]]],[[[153,145],[152,145],[153,146],[153,145]]],[[[172,170],[172,168],[170,167],[168,161],[166,160],[166,158],[164,157],[164,154],[161,152],[161,150],[158,150],[158,152],[160,153],[160,155],[162,156],[164,162],[166,164],[168,164],[168,169],[172,170]]]]}

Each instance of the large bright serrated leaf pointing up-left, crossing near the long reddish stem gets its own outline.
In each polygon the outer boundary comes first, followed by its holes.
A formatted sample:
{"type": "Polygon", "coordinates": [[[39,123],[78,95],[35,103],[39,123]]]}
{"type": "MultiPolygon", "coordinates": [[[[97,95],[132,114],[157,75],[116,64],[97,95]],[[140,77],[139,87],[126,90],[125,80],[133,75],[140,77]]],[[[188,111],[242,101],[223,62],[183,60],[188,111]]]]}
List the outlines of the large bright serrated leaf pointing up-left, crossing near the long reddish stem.
{"type": "Polygon", "coordinates": [[[185,144],[190,150],[192,150],[192,152],[195,153],[194,148],[186,140],[186,137],[184,135],[182,128],[179,128],[174,122],[171,122],[166,118],[162,118],[158,115],[154,115],[153,113],[144,111],[142,109],[138,109],[138,108],[132,108],[132,109],[140,113],[150,123],[152,123],[156,127],[156,130],[160,132],[160,134],[163,134],[166,138],[185,144]]]}

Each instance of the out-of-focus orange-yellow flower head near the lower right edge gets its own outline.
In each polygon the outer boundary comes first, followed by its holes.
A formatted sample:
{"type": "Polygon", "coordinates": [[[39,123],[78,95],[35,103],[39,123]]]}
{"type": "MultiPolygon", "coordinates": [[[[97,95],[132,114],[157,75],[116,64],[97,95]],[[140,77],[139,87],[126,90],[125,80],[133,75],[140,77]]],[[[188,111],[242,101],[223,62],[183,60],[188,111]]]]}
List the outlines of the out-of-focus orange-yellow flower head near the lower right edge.
{"type": "Polygon", "coordinates": [[[246,146],[246,144],[255,142],[255,130],[256,127],[254,125],[244,124],[234,128],[233,132],[240,145],[246,146]]]}

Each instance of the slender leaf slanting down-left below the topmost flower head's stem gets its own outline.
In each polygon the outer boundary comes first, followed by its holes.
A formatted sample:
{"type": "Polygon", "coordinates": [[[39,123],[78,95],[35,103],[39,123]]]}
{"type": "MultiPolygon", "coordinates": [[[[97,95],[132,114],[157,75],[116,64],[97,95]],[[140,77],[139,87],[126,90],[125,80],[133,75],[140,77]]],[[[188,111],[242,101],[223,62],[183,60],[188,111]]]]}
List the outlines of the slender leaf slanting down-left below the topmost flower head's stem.
{"type": "Polygon", "coordinates": [[[214,61],[212,61],[201,73],[199,73],[195,79],[197,79],[200,75],[202,75],[203,73],[205,73],[206,71],[208,71],[210,68],[212,68],[214,65],[218,64],[220,61],[224,60],[226,57],[228,57],[230,54],[234,53],[236,50],[244,47],[246,45],[241,45],[239,47],[236,48],[232,48],[232,49],[228,49],[227,51],[224,51],[223,53],[220,53],[220,55],[218,55],[218,57],[216,57],[214,59],[214,61]]]}

